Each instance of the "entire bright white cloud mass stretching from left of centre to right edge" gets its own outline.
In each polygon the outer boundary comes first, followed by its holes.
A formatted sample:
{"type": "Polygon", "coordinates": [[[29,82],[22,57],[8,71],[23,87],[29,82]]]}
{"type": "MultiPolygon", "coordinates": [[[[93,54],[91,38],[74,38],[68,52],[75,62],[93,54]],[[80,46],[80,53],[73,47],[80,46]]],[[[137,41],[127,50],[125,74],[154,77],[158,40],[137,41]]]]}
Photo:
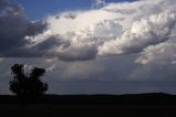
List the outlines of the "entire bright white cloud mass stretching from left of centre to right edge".
{"type": "Polygon", "coordinates": [[[176,21],[174,3],[141,0],[51,15],[48,30],[31,40],[32,47],[40,50],[39,55],[64,61],[142,52],[169,40],[176,21]]]}

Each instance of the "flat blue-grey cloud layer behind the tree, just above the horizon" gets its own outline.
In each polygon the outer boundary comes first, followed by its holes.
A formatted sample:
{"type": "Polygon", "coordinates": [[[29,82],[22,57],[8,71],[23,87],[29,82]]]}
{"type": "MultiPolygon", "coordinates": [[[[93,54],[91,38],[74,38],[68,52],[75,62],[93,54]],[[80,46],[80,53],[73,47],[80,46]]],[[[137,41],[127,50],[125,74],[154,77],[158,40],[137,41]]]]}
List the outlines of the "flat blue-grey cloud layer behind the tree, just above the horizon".
{"type": "Polygon", "coordinates": [[[14,63],[51,68],[42,78],[53,94],[124,94],[165,92],[176,93],[176,66],[134,64],[135,55],[99,57],[86,62],[61,62],[56,59],[8,59],[0,62],[0,93],[9,94],[8,83],[12,76],[9,67],[14,63]],[[53,67],[53,64],[55,65],[53,67]]]}

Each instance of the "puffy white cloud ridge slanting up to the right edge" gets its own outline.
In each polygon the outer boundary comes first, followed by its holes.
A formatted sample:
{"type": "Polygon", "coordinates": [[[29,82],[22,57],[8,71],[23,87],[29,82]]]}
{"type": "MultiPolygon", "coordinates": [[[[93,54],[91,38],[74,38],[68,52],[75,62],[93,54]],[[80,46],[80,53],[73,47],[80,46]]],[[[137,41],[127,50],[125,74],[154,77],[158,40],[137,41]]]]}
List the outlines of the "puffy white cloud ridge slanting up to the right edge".
{"type": "Polygon", "coordinates": [[[173,25],[176,22],[176,13],[165,11],[151,15],[141,21],[134,21],[132,28],[126,30],[121,38],[107,41],[100,46],[99,53],[123,54],[142,51],[152,44],[158,44],[168,40],[173,25]]]}

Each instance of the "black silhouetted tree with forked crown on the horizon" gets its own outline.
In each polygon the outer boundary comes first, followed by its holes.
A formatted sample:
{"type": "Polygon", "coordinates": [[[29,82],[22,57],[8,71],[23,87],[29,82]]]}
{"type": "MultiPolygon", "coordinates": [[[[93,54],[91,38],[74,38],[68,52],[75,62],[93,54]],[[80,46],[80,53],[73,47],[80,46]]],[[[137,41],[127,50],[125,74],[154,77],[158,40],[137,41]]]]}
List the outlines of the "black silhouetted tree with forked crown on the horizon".
{"type": "Polygon", "coordinates": [[[19,96],[37,96],[46,92],[48,84],[39,78],[44,75],[44,68],[34,67],[29,76],[24,74],[23,64],[14,64],[11,71],[14,75],[14,78],[10,81],[10,91],[12,93],[19,96]]]}

